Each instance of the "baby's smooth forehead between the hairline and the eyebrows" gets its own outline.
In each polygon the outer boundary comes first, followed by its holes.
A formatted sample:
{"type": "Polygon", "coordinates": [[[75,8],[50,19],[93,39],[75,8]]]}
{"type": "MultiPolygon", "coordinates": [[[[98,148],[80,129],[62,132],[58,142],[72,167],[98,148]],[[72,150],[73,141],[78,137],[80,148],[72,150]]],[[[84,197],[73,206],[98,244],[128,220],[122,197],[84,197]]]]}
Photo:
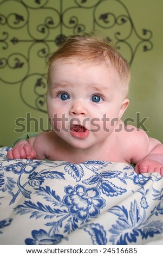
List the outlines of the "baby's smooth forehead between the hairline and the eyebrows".
{"type": "Polygon", "coordinates": [[[115,88],[121,83],[119,74],[114,67],[108,66],[106,63],[90,63],[76,58],[55,60],[49,78],[49,82],[61,83],[64,80],[67,83],[75,83],[80,86],[84,83],[89,86],[97,87],[99,85],[99,87],[108,88],[110,84],[114,84],[115,88]]]}

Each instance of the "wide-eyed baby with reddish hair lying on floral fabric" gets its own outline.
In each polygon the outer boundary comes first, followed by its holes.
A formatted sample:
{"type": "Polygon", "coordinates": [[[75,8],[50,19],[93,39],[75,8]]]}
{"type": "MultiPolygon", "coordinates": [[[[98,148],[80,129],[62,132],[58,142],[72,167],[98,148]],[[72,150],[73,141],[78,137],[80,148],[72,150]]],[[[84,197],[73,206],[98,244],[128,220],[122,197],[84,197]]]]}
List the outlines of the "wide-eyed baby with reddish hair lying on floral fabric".
{"type": "Polygon", "coordinates": [[[163,176],[163,145],[121,120],[128,107],[129,66],[106,41],[69,36],[49,59],[51,130],[19,141],[8,159],[134,163],[163,176]]]}

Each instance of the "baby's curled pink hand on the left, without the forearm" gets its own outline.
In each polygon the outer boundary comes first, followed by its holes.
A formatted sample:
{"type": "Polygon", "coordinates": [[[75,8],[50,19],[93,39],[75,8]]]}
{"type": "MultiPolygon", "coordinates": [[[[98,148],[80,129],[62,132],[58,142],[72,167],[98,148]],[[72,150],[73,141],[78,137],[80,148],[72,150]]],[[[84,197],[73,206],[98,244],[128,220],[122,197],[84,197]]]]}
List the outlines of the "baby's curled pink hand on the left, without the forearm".
{"type": "Polygon", "coordinates": [[[8,151],[8,159],[34,159],[36,156],[35,150],[29,143],[17,145],[8,151]]]}

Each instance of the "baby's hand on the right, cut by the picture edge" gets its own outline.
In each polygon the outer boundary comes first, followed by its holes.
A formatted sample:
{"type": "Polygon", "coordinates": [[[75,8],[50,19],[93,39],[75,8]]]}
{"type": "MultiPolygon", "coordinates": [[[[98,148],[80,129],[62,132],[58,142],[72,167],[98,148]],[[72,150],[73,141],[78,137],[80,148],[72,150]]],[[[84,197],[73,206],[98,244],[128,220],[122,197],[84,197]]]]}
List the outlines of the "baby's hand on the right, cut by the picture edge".
{"type": "Polygon", "coordinates": [[[143,159],[139,161],[135,166],[136,173],[159,173],[163,176],[163,164],[152,160],[152,159],[143,159]]]}

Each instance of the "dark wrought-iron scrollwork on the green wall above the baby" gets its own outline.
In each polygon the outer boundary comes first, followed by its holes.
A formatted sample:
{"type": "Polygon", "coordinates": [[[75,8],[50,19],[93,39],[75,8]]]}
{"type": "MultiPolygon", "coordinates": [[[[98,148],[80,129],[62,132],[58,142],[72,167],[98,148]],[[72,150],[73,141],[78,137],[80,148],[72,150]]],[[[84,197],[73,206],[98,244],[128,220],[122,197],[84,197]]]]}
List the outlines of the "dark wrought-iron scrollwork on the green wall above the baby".
{"type": "Polygon", "coordinates": [[[122,0],[5,0],[0,10],[0,80],[19,83],[23,102],[41,112],[47,112],[43,67],[50,52],[67,35],[101,31],[130,66],[138,50],[153,48],[152,31],[136,31],[122,0]]]}

